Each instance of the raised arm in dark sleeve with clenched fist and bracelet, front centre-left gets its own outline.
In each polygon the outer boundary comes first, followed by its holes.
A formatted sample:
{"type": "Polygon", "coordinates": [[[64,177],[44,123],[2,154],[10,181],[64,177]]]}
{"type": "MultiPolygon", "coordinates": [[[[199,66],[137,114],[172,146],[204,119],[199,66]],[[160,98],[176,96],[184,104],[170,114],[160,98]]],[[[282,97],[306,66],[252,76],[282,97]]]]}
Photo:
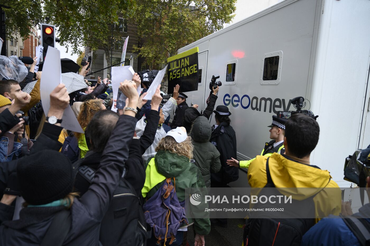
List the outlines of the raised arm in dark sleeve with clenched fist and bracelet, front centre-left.
{"type": "Polygon", "coordinates": [[[95,173],[94,180],[88,191],[81,197],[80,201],[90,215],[101,221],[108,209],[114,190],[122,175],[125,161],[129,154],[129,144],[136,125],[135,112],[139,95],[135,82],[125,81],[121,83],[120,89],[127,96],[127,108],[121,115],[113,133],[108,140],[103,156],[95,173]]]}

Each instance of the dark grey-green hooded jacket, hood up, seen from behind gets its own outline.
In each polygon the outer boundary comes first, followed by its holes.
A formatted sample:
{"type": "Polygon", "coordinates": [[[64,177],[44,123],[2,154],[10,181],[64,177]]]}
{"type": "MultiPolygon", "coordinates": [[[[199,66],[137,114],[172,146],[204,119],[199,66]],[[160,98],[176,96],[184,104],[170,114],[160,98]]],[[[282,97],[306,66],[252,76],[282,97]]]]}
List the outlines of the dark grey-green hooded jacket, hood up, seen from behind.
{"type": "Polygon", "coordinates": [[[221,169],[220,153],[209,142],[211,133],[208,119],[204,116],[196,118],[190,132],[194,146],[193,158],[195,165],[201,170],[206,187],[211,187],[211,172],[218,172],[221,169]]]}

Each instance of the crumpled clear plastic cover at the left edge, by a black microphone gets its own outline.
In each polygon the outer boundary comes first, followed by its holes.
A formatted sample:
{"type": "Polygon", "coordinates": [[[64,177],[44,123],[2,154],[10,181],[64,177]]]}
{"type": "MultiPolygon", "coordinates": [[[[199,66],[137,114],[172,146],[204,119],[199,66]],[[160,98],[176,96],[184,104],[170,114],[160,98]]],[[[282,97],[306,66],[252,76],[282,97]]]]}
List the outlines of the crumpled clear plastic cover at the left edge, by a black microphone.
{"type": "Polygon", "coordinates": [[[0,55],[0,75],[6,79],[22,82],[28,74],[27,67],[15,55],[5,57],[0,55]]]}

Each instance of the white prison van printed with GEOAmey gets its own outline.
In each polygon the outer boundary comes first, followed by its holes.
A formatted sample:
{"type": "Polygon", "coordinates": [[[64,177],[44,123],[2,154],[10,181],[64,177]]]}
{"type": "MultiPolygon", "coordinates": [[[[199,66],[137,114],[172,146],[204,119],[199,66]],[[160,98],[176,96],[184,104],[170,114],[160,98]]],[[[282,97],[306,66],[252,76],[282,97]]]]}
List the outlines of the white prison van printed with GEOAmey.
{"type": "MultiPolygon", "coordinates": [[[[340,187],[344,159],[370,144],[370,1],[285,0],[178,50],[199,47],[198,90],[188,104],[205,108],[212,75],[222,86],[216,105],[232,112],[239,160],[260,154],[272,115],[295,110],[303,96],[319,115],[311,163],[340,187]]],[[[212,123],[214,124],[212,119],[212,123]]],[[[248,186],[239,170],[233,187],[248,186]]]]}

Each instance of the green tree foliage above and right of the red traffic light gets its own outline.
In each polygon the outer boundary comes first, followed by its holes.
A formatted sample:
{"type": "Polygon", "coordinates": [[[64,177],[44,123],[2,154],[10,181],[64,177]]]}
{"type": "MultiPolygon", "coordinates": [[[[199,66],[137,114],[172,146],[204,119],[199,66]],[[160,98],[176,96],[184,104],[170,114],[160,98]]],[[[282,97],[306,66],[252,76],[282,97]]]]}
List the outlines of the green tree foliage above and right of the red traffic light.
{"type": "Polygon", "coordinates": [[[127,18],[134,6],[134,0],[48,0],[43,9],[49,23],[58,28],[61,45],[71,44],[73,54],[79,53],[80,46],[102,47],[110,66],[111,36],[118,35],[115,24],[119,17],[127,18]]]}

